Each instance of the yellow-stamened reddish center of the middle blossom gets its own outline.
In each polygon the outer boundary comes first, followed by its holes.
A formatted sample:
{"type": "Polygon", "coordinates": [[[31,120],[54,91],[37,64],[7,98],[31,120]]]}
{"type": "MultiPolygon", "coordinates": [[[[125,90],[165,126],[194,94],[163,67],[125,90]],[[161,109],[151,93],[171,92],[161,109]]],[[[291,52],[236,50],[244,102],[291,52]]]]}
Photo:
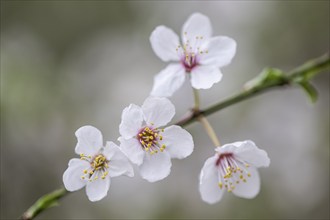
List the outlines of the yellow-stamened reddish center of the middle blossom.
{"type": "Polygon", "coordinates": [[[144,127],[137,135],[141,147],[146,152],[149,152],[151,155],[160,152],[163,152],[166,148],[165,144],[160,144],[160,141],[163,140],[163,136],[160,135],[161,132],[164,132],[164,129],[144,127]]]}

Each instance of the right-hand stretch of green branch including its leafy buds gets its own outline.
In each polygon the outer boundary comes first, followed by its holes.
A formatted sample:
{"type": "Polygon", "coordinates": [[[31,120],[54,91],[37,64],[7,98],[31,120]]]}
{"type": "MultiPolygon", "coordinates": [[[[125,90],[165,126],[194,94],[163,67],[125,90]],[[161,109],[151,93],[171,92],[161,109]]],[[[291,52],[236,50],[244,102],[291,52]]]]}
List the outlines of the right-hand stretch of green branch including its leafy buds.
{"type": "Polygon", "coordinates": [[[317,90],[310,83],[310,80],[320,72],[329,69],[329,66],[329,54],[325,54],[319,58],[306,62],[287,74],[278,69],[266,68],[259,76],[247,82],[241,93],[214,104],[204,110],[192,110],[192,113],[188,117],[182,119],[176,124],[183,127],[187,126],[196,121],[199,115],[211,115],[226,107],[244,101],[275,87],[299,85],[307,92],[311,101],[315,102],[317,99],[317,90]]]}

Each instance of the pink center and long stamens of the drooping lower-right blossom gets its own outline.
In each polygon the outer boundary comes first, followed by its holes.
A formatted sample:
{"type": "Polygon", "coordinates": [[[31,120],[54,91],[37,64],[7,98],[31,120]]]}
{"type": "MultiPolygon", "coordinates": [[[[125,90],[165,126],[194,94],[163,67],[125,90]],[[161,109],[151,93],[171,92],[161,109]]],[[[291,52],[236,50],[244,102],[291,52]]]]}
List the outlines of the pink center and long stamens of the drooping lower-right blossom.
{"type": "Polygon", "coordinates": [[[220,154],[216,164],[218,167],[219,187],[223,187],[232,192],[236,185],[247,182],[247,178],[251,177],[249,172],[250,165],[234,156],[233,153],[220,154]]]}

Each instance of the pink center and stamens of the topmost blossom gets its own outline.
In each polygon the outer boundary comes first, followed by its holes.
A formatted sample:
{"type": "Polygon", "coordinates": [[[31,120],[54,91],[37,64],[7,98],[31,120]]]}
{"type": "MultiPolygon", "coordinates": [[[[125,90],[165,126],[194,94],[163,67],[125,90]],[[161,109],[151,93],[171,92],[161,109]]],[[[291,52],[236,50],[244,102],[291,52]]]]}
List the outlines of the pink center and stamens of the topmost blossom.
{"type": "Polygon", "coordinates": [[[203,36],[195,36],[195,39],[190,40],[188,38],[187,32],[184,33],[186,41],[183,46],[179,45],[176,48],[176,51],[180,57],[181,64],[184,66],[187,73],[190,73],[191,70],[199,65],[199,58],[202,54],[208,53],[207,50],[200,49],[203,36]],[[192,43],[193,42],[193,43],[192,43]]]}

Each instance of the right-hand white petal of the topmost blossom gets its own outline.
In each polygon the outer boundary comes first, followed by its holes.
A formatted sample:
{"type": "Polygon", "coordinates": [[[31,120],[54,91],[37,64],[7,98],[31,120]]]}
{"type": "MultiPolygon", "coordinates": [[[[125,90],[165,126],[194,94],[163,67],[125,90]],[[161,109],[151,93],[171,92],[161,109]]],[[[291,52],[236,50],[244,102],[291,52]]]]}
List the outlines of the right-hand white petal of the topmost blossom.
{"type": "Polygon", "coordinates": [[[236,42],[225,36],[213,37],[202,45],[201,50],[207,53],[199,56],[199,64],[223,67],[233,59],[236,53],[236,42]]]}

